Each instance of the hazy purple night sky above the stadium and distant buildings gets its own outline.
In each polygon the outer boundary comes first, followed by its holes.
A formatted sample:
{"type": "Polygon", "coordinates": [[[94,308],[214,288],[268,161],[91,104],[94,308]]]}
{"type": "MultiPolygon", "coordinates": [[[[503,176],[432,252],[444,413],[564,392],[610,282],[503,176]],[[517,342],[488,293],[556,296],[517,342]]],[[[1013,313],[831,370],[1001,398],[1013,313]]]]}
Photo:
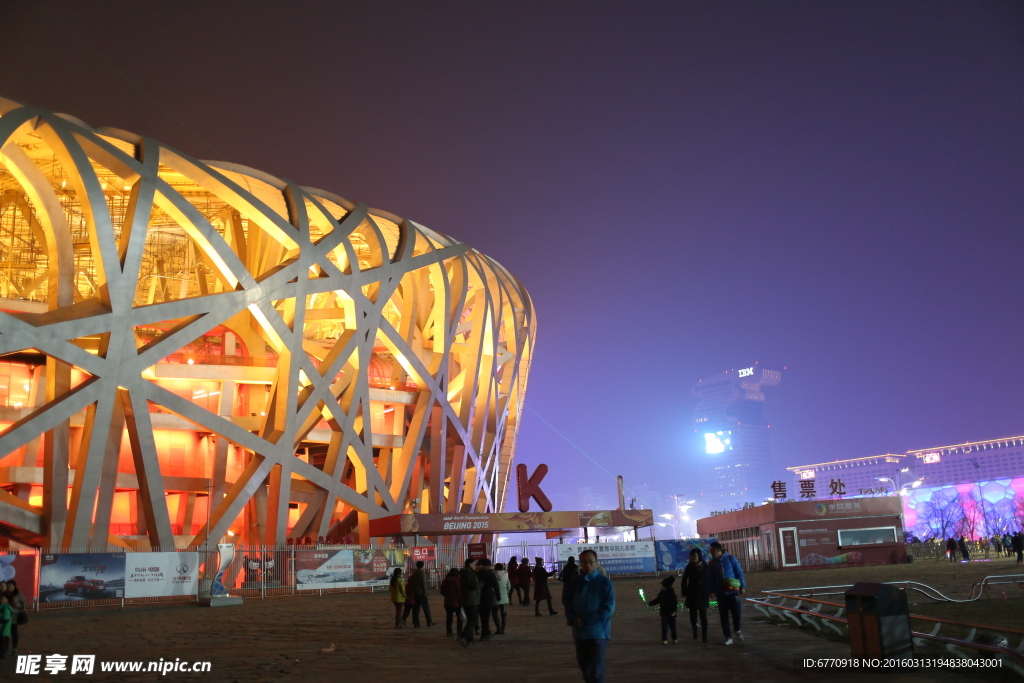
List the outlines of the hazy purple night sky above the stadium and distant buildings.
{"type": "MultiPolygon", "coordinates": [[[[754,360],[788,367],[779,476],[1024,433],[1019,3],[23,3],[4,25],[0,95],[502,262],[538,310],[527,407],[647,507],[696,493],[691,385],[754,360]]],[[[517,459],[551,467],[557,508],[613,501],[529,411],[517,459]]]]}

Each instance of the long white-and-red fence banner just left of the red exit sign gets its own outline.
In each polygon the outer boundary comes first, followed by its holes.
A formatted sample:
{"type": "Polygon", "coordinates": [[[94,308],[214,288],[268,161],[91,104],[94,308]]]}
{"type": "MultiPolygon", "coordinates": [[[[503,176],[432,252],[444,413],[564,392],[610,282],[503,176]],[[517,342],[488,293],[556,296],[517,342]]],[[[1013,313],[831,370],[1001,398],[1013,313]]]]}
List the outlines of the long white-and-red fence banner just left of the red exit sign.
{"type": "Polygon", "coordinates": [[[297,550],[295,586],[300,591],[386,586],[396,567],[407,569],[409,550],[297,550]]]}

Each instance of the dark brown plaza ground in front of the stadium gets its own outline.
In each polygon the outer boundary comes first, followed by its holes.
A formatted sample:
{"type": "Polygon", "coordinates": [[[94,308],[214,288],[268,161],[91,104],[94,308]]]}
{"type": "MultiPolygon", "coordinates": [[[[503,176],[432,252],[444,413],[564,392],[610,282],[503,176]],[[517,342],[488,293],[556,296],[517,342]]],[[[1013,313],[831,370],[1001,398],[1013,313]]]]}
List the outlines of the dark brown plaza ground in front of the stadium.
{"type": "MultiPolygon", "coordinates": [[[[911,565],[822,569],[749,574],[754,595],[771,588],[842,584],[853,581],[920,581],[966,596],[970,585],[992,573],[1011,573],[1009,562],[911,565]],[[997,568],[997,571],[993,571],[997,568]]],[[[678,645],[662,645],[656,610],[640,600],[638,589],[657,590],[656,579],[617,580],[617,610],[608,649],[608,681],[682,681],[714,677],[742,681],[862,680],[862,673],[808,672],[795,668],[804,656],[840,656],[849,645],[816,637],[807,630],[758,621],[744,607],[746,640],[724,645],[718,614],[711,616],[711,643],[694,643],[689,624],[680,624],[678,645]]],[[[1024,595],[1019,588],[1013,591],[1024,595]]],[[[1024,600],[985,600],[1008,623],[1024,618],[1024,600]],[[1013,605],[1008,607],[1008,605],[1013,605]]],[[[443,617],[440,596],[432,600],[435,618],[443,617]]],[[[556,607],[557,608],[557,607],[556,607]]],[[[918,609],[914,607],[913,609],[918,609]]],[[[313,683],[316,681],[481,680],[532,683],[581,680],[575,668],[570,630],[561,615],[535,617],[532,607],[510,607],[508,635],[462,648],[434,628],[394,630],[386,592],[246,599],[241,606],[145,605],[127,608],[86,608],[33,614],[22,629],[19,654],[58,652],[96,654],[97,660],[209,660],[208,674],[110,673],[98,671],[85,680],[116,681],[238,681],[313,683]],[[332,649],[333,648],[333,649],[332,649]],[[327,650],[327,651],[325,651],[327,650]]],[[[683,616],[685,620],[685,615],[683,616]]],[[[979,616],[980,618],[980,616],[979,616]]],[[[1017,641],[1013,642],[1017,645],[1017,641]]],[[[892,674],[888,675],[893,677],[892,674]]],[[[62,674],[59,678],[81,677],[62,674]]],[[[13,657],[0,661],[0,680],[18,680],[13,657]]],[[[43,680],[57,678],[47,674],[43,680]]],[[[992,675],[939,672],[904,674],[901,681],[996,680],[992,675]]],[[[26,680],[31,680],[28,677],[26,680]]],[[[39,680],[39,679],[36,679],[39,680]]],[[[1019,680],[1019,679],[1012,679],[1019,680]]]]}

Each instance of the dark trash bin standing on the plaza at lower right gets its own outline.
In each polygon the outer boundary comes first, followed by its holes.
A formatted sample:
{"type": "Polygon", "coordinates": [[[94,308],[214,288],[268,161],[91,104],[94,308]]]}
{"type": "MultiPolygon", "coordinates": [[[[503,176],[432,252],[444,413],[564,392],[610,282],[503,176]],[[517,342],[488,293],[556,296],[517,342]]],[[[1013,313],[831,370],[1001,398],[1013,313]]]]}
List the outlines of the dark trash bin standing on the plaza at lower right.
{"type": "Polygon", "coordinates": [[[913,653],[906,592],[888,584],[854,584],[844,596],[854,656],[913,653]]]}

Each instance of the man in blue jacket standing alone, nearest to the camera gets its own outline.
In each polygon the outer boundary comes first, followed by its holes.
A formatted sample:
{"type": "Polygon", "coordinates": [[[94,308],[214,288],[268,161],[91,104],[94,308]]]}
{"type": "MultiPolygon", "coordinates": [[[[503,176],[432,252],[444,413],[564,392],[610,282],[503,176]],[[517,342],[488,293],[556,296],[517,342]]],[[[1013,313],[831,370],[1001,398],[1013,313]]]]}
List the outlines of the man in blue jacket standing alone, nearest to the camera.
{"type": "Polygon", "coordinates": [[[565,604],[565,623],[572,627],[577,663],[585,683],[604,683],[604,655],[614,613],[611,580],[597,570],[597,553],[585,550],[580,553],[580,575],[572,587],[572,600],[565,604]]]}

